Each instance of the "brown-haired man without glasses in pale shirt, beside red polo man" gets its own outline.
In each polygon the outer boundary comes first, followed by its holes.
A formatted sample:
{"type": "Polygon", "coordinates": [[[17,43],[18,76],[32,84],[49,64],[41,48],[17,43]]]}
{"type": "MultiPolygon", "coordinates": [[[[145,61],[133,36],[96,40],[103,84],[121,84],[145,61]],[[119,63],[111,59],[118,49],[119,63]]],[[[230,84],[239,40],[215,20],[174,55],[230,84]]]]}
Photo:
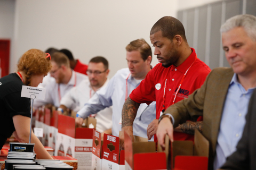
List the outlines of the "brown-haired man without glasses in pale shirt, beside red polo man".
{"type": "MultiPolygon", "coordinates": [[[[97,91],[88,103],[77,113],[76,123],[81,125],[83,119],[113,106],[112,133],[119,135],[121,131],[122,106],[131,91],[139,86],[142,79],[151,70],[151,48],[144,39],[137,39],[126,46],[126,60],[129,68],[117,71],[106,87],[97,91]]],[[[141,105],[134,121],[134,135],[147,138],[147,126],[154,120],[155,103],[141,105]]]]}

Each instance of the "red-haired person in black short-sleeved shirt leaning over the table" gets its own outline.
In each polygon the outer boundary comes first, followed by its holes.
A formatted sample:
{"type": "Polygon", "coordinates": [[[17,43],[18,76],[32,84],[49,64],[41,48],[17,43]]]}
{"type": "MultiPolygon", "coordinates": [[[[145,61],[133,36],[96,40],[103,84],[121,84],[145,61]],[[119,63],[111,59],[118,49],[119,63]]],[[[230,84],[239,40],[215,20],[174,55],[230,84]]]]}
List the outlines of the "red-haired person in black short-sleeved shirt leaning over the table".
{"type": "MultiPolygon", "coordinates": [[[[19,142],[29,142],[30,99],[21,97],[21,89],[23,85],[37,87],[51,70],[50,60],[49,54],[30,49],[20,58],[18,71],[0,79],[0,149],[12,134],[19,142]]],[[[38,159],[52,159],[33,132],[31,143],[38,159]]]]}

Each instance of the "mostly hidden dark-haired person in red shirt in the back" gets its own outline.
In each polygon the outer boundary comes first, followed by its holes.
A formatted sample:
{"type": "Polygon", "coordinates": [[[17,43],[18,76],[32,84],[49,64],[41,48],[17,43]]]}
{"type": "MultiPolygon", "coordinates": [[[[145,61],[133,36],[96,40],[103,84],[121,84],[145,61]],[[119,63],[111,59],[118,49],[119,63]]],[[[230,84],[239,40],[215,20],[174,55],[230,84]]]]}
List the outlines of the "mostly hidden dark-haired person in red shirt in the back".
{"type": "Polygon", "coordinates": [[[86,71],[88,65],[81,63],[79,60],[75,60],[72,53],[68,49],[61,49],[60,52],[64,53],[68,57],[71,69],[73,69],[75,72],[87,75],[86,71]]]}

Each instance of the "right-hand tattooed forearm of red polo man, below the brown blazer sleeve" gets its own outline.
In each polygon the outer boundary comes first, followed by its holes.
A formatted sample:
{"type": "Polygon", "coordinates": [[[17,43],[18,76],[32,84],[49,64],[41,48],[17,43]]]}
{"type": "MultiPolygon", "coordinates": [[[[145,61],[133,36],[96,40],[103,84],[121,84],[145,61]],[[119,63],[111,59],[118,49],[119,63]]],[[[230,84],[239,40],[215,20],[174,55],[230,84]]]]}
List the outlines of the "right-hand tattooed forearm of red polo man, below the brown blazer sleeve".
{"type": "Polygon", "coordinates": [[[186,123],[179,124],[177,128],[174,129],[175,132],[183,132],[187,134],[195,134],[195,129],[197,129],[199,132],[202,132],[203,129],[203,122],[191,122],[187,121],[186,123]]]}

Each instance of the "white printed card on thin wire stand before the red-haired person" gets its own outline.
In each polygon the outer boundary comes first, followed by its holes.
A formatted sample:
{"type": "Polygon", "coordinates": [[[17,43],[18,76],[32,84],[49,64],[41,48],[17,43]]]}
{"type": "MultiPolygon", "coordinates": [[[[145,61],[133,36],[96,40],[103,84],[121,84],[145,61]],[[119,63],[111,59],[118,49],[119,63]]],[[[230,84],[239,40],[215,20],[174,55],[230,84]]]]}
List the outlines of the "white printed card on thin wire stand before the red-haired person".
{"type": "Polygon", "coordinates": [[[21,97],[44,100],[45,92],[46,90],[42,88],[22,86],[21,97]]]}

